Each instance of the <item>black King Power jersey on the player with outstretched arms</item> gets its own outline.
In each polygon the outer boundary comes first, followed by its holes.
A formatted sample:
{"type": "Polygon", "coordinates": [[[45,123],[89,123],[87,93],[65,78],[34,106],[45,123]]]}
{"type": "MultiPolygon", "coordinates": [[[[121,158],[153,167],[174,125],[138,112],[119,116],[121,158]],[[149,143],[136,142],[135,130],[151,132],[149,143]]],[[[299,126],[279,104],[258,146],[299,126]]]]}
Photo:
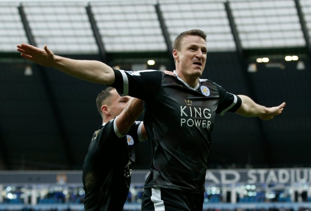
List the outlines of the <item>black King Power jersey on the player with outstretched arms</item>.
{"type": "Polygon", "coordinates": [[[145,101],[144,126],[152,148],[145,187],[204,192],[215,114],[236,111],[241,99],[207,79],[192,88],[161,71],[114,74],[111,86],[120,95],[145,101]]]}

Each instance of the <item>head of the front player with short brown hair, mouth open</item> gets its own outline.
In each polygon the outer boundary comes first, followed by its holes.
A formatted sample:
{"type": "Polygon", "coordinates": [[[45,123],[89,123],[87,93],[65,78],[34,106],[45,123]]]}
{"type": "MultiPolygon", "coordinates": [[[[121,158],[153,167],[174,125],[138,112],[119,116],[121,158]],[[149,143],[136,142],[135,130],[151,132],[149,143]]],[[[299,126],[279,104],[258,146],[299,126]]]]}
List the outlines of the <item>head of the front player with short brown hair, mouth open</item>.
{"type": "Polygon", "coordinates": [[[204,31],[193,29],[182,32],[174,41],[176,72],[187,83],[197,85],[203,73],[207,54],[206,36],[204,31]]]}

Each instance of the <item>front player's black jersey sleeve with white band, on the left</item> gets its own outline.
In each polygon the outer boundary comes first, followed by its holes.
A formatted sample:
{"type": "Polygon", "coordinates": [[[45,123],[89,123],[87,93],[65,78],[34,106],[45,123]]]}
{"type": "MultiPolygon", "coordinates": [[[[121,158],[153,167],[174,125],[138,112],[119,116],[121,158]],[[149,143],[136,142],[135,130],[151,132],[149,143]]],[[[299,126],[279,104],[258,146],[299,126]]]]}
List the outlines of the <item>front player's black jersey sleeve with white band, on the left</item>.
{"type": "Polygon", "coordinates": [[[141,100],[152,98],[160,89],[162,71],[142,70],[124,71],[114,69],[115,81],[110,86],[116,88],[121,96],[132,96],[141,100]]]}

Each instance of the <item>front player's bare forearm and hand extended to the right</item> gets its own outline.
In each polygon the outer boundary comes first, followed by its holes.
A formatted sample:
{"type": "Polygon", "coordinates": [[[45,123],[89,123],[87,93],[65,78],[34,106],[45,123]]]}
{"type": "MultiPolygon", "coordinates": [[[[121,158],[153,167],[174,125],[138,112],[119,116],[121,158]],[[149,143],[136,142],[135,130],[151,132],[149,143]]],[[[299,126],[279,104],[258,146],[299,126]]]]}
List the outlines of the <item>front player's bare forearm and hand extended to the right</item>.
{"type": "Polygon", "coordinates": [[[285,102],[275,107],[265,107],[255,103],[250,97],[245,95],[238,95],[242,104],[236,111],[237,114],[246,117],[260,117],[262,120],[272,120],[273,117],[282,113],[285,107],[285,102]]]}

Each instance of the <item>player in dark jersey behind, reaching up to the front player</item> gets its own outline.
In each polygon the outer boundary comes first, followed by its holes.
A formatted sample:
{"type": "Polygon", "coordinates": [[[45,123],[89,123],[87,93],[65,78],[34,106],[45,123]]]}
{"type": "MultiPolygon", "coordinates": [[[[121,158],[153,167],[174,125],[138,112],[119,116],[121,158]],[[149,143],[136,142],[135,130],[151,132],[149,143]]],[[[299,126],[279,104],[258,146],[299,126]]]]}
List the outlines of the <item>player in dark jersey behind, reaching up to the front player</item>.
{"type": "Polygon", "coordinates": [[[131,182],[134,144],[147,138],[142,101],[119,96],[113,87],[96,99],[103,123],[95,131],[83,164],[84,210],[123,210],[131,182]]]}

